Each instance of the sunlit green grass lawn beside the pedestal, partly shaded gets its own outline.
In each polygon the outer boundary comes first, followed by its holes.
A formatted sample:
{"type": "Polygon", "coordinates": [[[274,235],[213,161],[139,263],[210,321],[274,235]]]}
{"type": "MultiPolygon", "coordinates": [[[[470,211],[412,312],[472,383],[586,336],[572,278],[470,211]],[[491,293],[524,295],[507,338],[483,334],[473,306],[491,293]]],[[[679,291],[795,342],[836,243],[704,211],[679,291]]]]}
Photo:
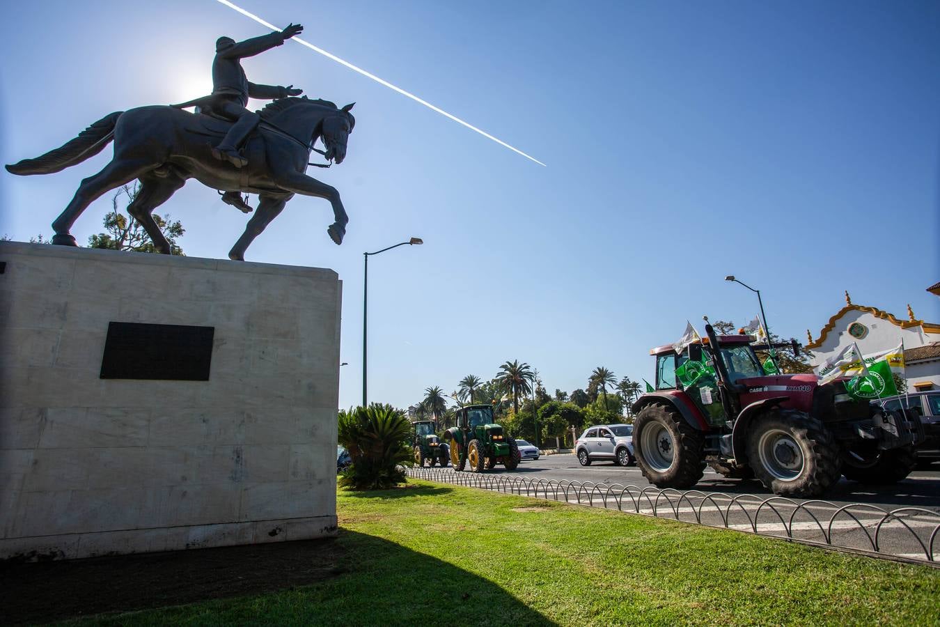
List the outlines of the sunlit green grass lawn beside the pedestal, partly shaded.
{"type": "MultiPolygon", "coordinates": [[[[412,481],[339,491],[337,574],[93,620],[318,625],[938,624],[940,571],[412,481]]],[[[245,568],[251,568],[246,564],[245,568]]]]}

